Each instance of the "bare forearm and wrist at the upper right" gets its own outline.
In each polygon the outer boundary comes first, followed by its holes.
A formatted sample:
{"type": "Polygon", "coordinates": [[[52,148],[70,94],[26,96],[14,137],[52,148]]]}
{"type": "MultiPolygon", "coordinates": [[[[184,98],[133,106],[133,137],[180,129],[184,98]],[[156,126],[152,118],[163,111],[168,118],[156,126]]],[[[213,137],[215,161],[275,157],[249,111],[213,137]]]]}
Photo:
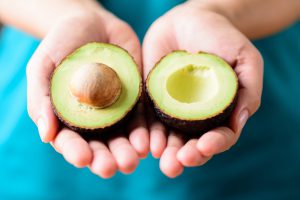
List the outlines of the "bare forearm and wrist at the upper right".
{"type": "Polygon", "coordinates": [[[224,16],[251,39],[279,32],[300,17],[299,0],[190,0],[187,3],[198,10],[224,16]]]}

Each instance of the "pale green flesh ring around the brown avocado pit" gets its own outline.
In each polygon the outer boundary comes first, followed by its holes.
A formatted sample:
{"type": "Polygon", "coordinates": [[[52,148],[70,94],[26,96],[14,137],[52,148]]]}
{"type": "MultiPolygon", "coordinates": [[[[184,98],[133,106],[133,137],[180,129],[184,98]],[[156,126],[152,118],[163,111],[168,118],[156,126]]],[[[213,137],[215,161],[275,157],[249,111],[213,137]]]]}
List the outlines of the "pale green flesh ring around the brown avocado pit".
{"type": "Polygon", "coordinates": [[[137,103],[141,93],[141,76],[132,57],[122,48],[105,43],[86,44],[56,68],[51,79],[51,102],[63,123],[79,129],[104,129],[123,119],[137,103]],[[122,91],[112,105],[96,108],[80,103],[72,95],[69,82],[80,66],[102,63],[118,75],[122,91]]]}

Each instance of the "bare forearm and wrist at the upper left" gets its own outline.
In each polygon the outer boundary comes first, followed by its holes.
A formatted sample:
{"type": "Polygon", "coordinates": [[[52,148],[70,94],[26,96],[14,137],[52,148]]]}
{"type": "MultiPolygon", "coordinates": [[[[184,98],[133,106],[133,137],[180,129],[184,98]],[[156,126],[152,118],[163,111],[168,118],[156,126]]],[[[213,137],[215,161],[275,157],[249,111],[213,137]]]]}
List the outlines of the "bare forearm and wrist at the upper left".
{"type": "Polygon", "coordinates": [[[0,1],[0,20],[22,31],[43,38],[62,20],[104,13],[95,0],[0,1]]]}

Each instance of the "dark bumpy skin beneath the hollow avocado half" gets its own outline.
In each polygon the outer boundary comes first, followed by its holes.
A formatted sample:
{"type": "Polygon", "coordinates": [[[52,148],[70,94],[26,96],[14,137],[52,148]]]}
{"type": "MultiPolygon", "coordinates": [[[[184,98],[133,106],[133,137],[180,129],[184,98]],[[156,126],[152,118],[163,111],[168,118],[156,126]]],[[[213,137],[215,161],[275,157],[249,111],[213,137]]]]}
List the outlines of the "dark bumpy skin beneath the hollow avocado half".
{"type": "Polygon", "coordinates": [[[183,120],[163,113],[151,98],[151,95],[149,94],[147,88],[145,89],[145,91],[147,94],[147,98],[151,106],[153,107],[154,113],[158,117],[158,119],[167,126],[183,132],[188,137],[198,137],[218,126],[226,126],[226,124],[228,123],[228,119],[231,116],[237,103],[236,94],[231,104],[223,112],[214,117],[207,118],[205,120],[183,120]]]}

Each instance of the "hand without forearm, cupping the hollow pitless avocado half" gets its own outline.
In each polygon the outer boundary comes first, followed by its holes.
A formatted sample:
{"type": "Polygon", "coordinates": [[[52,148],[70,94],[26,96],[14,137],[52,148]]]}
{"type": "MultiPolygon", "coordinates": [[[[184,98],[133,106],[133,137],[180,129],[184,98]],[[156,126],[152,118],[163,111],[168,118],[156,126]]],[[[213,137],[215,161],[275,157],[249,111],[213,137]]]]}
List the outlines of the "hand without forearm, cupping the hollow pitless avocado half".
{"type": "Polygon", "coordinates": [[[257,49],[224,16],[195,6],[196,1],[175,7],[148,30],[143,43],[145,76],[154,64],[173,50],[209,52],[224,58],[239,79],[238,102],[229,127],[218,127],[198,139],[184,141],[177,133],[149,118],[150,150],[161,157],[160,168],[169,177],[184,167],[200,166],[226,151],[238,140],[249,116],[260,105],[263,61],[257,49]]]}

